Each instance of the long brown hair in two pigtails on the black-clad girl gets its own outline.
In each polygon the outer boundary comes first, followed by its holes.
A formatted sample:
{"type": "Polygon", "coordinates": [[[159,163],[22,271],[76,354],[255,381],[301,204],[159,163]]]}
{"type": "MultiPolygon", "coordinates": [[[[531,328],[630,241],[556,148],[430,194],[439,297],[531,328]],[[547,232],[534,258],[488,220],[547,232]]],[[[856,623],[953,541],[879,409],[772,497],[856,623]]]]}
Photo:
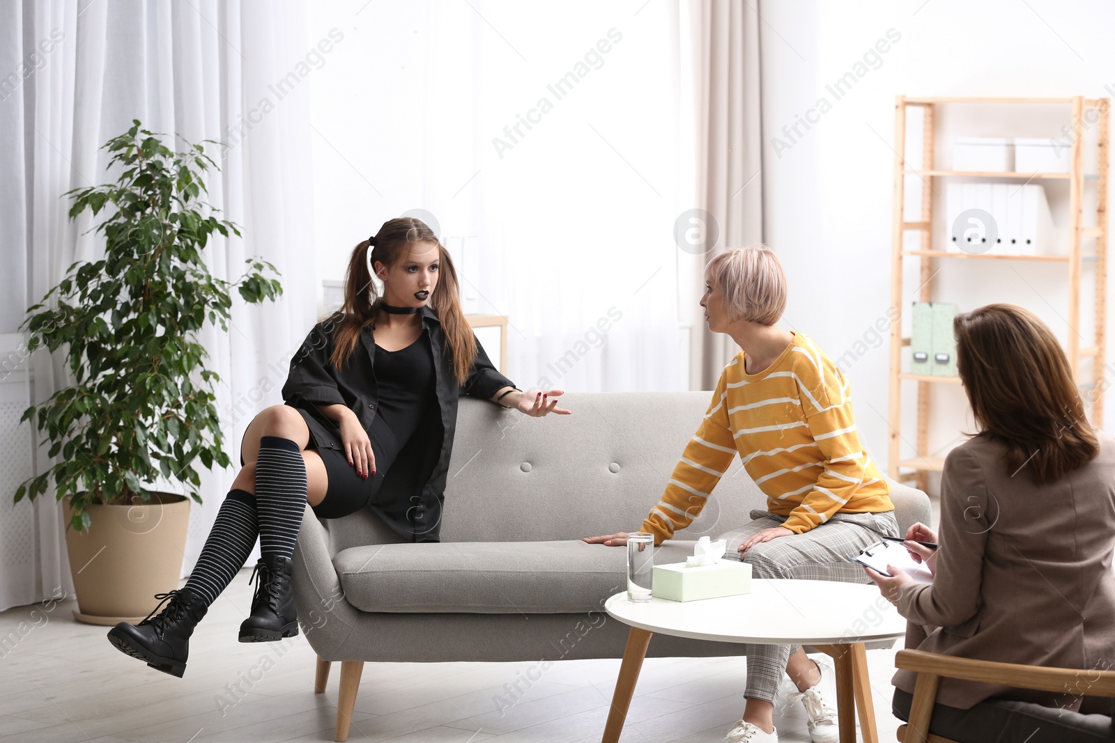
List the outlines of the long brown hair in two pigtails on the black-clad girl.
{"type": "Polygon", "coordinates": [[[352,248],[348,271],[345,272],[345,303],[329,317],[328,324],[336,325],[333,351],[329,356],[334,368],[341,369],[352,355],[360,333],[376,320],[382,299],[371,281],[370,266],[381,261],[387,267],[405,256],[415,243],[433,243],[437,246],[437,285],[429,297],[429,306],[437,313],[445,331],[445,344],[453,353],[453,369],[458,384],[464,384],[476,359],[476,339],[460,311],[460,291],[457,271],[449,258],[449,252],[438,241],[434,231],[421,219],[399,217],[388,219],[371,238],[375,247],[368,256],[368,239],[352,248]]]}

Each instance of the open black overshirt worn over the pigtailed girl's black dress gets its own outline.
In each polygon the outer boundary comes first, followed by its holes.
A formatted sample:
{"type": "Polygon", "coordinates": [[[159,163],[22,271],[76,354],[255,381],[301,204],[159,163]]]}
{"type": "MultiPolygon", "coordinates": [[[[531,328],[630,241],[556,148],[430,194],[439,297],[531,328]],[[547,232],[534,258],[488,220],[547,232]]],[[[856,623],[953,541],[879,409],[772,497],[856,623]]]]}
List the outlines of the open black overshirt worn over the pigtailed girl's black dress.
{"type": "MultiPolygon", "coordinates": [[[[440,320],[429,307],[423,307],[418,314],[425,331],[418,343],[426,344],[434,360],[437,405],[427,411],[423,436],[411,437],[403,446],[369,508],[385,524],[414,541],[437,541],[457,426],[457,399],[468,394],[489,400],[501,388],[514,384],[495,370],[479,341],[476,341],[476,358],[468,378],[464,384],[457,384],[453,349],[445,342],[440,320]]],[[[341,313],[334,313],[307,335],[291,359],[282,398],[288,405],[310,413],[308,426],[318,447],[343,450],[340,428],[317,405],[347,405],[368,431],[377,417],[380,382],[370,326],[360,333],[360,343],[341,369],[329,361],[333,330],[341,319],[341,313]]]]}

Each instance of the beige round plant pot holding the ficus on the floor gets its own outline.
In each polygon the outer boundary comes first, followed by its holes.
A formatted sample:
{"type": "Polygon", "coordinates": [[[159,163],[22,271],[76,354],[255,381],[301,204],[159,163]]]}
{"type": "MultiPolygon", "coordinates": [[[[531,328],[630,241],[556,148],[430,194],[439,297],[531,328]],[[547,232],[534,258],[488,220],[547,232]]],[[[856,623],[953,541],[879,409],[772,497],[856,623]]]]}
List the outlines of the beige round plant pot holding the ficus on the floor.
{"type": "MultiPolygon", "coordinates": [[[[89,506],[88,531],[66,530],[78,622],[139,622],[178,587],[190,527],[190,499],[152,492],[151,502],[89,506]]],[[[66,504],[66,520],[71,509],[66,504]]]]}

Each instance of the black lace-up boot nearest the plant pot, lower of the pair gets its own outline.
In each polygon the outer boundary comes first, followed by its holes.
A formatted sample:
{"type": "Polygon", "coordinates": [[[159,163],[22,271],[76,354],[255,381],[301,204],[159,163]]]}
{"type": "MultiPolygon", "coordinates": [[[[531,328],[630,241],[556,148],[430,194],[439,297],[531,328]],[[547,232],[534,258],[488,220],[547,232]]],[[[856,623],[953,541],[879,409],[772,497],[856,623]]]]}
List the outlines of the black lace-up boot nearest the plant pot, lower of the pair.
{"type": "Polygon", "coordinates": [[[155,598],[162,600],[143,622],[137,625],[120,622],[108,630],[108,642],[122,653],[145,661],[152,668],[181,678],[186,672],[190,636],[209,606],[190,588],[155,594],[155,598]],[[158,616],[152,616],[167,599],[171,603],[158,616]]]}

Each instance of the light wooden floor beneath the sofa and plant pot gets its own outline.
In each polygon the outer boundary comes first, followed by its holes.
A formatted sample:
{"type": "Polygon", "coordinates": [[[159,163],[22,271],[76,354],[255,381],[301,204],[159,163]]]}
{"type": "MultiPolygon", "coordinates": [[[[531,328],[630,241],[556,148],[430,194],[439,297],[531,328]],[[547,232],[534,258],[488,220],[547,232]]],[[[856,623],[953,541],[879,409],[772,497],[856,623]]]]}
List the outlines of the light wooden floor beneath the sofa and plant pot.
{"type": "MultiPolygon", "coordinates": [[[[74,622],[72,600],[49,614],[38,606],[0,613],[0,740],[332,741],[339,664],[326,694],[313,694],[314,654],[301,635],[283,643],[237,643],[251,604],[248,575],[241,571],[194,633],[183,678],[118,652],[105,638],[107,627],[74,622]]],[[[867,658],[880,740],[893,741],[894,652],[869,651],[867,658]]],[[[531,666],[366,664],[349,740],[599,741],[619,661],[559,662],[512,707],[497,712],[504,684],[531,666]]],[[[648,658],[622,741],[720,741],[743,712],[744,685],[741,658],[648,658]]],[[[779,710],[775,724],[782,741],[809,740],[804,715],[799,704],[779,710]]]]}

